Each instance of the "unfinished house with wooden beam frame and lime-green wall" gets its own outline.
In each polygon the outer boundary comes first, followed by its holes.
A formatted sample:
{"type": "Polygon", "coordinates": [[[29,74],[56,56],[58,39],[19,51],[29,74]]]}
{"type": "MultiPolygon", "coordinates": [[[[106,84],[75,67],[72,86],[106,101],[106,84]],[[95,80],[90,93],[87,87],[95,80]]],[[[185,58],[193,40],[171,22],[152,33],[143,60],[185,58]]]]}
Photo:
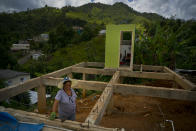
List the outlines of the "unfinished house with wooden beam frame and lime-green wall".
{"type": "MultiPolygon", "coordinates": [[[[174,130],[174,128],[183,130],[183,127],[180,127],[183,125],[187,126],[185,130],[196,129],[194,127],[196,117],[192,111],[192,109],[195,110],[196,85],[165,66],[133,64],[134,35],[134,25],[109,25],[106,31],[105,63],[81,62],[41,77],[30,79],[23,84],[0,89],[0,101],[4,101],[9,97],[37,88],[39,114],[4,107],[0,107],[0,111],[10,113],[19,121],[44,123],[43,130],[47,131],[158,131],[174,130]],[[131,41],[129,40],[128,42],[130,52],[121,52],[122,33],[129,31],[132,36],[131,41]],[[121,55],[130,57],[130,62],[127,66],[123,65],[121,67],[121,55]],[[82,79],[74,78],[74,74],[80,74],[82,79]],[[65,75],[76,79],[77,85],[72,88],[82,89],[84,95],[87,90],[101,91],[101,94],[96,97],[92,108],[89,109],[87,116],[81,121],[78,121],[77,117],[76,121],[66,120],[65,122],[60,122],[59,119],[51,121],[44,114],[47,111],[46,87],[57,86],[63,80],[62,76],[65,75]],[[107,82],[89,80],[87,79],[88,75],[109,76],[110,79],[107,82]],[[135,84],[131,83],[133,79],[148,79],[150,82],[159,80],[162,83],[160,82],[158,86],[144,85],[143,83],[135,84]],[[165,83],[169,83],[169,86],[165,83]],[[116,95],[119,97],[116,97],[116,95]],[[140,105],[138,105],[139,103],[140,105]],[[122,106],[123,104],[124,107],[122,106]],[[173,108],[175,108],[175,111],[172,110],[173,108]],[[170,117],[166,109],[175,117],[170,117]],[[184,114],[182,109],[190,109],[188,112],[191,113],[184,114]],[[118,117],[116,114],[118,114],[118,117]],[[172,121],[171,119],[175,120],[172,121]],[[183,123],[179,123],[179,121],[183,123]],[[139,126],[136,127],[135,125],[139,126]]],[[[76,113],[76,115],[78,114],[76,113]]]]}

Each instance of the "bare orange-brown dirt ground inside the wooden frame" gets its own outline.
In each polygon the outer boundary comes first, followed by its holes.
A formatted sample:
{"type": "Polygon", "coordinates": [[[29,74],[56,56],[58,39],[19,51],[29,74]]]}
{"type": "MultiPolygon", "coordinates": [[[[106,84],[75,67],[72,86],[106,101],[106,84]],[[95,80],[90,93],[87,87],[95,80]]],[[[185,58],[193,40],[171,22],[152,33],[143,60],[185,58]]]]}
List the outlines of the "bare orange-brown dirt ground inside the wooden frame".
{"type": "MultiPolygon", "coordinates": [[[[97,97],[77,101],[76,121],[84,122],[97,97]]],[[[125,128],[126,131],[196,131],[196,102],[168,100],[144,96],[113,96],[111,115],[104,115],[101,126],[125,128]]]]}

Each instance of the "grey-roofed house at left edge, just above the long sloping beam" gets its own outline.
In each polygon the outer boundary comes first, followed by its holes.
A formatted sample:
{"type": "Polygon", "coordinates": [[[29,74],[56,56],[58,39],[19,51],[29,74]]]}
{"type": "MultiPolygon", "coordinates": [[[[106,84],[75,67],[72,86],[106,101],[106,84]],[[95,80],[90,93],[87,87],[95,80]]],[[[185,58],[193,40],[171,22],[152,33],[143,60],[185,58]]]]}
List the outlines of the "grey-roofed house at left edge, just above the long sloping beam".
{"type": "Polygon", "coordinates": [[[30,74],[6,69],[0,70],[0,79],[4,80],[8,87],[29,80],[30,74]]]}

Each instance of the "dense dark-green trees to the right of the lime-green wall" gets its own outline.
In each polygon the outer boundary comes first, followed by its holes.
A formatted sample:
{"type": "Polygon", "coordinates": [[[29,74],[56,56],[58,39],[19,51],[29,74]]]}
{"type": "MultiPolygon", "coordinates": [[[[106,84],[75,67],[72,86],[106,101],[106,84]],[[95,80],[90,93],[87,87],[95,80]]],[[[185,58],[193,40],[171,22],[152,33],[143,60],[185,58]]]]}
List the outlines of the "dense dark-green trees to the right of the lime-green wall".
{"type": "Polygon", "coordinates": [[[135,44],[135,63],[196,69],[195,21],[167,19],[145,27],[135,44]]]}

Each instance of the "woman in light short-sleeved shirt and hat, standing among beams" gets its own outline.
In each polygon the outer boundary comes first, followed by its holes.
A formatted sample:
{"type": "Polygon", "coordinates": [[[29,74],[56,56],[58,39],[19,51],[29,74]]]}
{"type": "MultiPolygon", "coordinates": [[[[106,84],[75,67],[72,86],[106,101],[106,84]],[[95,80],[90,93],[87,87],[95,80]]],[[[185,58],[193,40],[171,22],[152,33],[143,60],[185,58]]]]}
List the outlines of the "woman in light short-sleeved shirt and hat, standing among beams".
{"type": "Polygon", "coordinates": [[[58,114],[61,121],[65,120],[75,120],[76,113],[76,93],[71,88],[71,80],[68,77],[65,77],[62,81],[63,88],[57,92],[55,101],[52,108],[52,113],[50,119],[54,120],[56,117],[57,107],[58,114]]]}

